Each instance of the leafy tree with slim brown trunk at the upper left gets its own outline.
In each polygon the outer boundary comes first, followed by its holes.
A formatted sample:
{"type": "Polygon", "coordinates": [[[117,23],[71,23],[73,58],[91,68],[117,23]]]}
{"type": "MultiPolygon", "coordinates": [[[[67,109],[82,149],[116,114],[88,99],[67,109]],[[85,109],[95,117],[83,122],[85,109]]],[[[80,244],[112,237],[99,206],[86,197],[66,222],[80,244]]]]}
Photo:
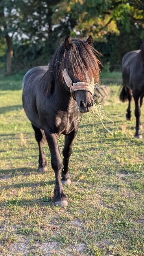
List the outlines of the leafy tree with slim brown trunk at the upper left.
{"type": "Polygon", "coordinates": [[[58,0],[1,0],[0,38],[7,43],[7,74],[12,72],[13,38],[33,42],[52,33],[52,6],[58,0]]]}

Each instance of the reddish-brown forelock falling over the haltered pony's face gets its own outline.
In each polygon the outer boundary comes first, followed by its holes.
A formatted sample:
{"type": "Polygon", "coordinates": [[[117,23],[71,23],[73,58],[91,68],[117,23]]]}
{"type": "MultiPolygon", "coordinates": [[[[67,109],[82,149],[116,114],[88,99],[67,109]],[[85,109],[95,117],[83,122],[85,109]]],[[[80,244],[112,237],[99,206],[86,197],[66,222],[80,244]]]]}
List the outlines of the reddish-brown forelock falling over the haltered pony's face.
{"type": "Polygon", "coordinates": [[[62,74],[63,66],[68,67],[73,76],[82,82],[86,81],[86,74],[99,82],[100,61],[96,57],[99,53],[87,41],[73,39],[70,50],[65,50],[65,58],[59,72],[62,74]]]}

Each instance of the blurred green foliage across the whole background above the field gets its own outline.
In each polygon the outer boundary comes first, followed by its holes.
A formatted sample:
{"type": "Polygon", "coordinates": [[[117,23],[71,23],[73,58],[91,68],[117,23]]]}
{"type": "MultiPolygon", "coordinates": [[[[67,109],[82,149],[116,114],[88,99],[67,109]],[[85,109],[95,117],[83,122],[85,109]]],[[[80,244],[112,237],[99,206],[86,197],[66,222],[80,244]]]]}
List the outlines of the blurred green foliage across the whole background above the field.
{"type": "MultiPolygon", "coordinates": [[[[2,0],[0,38],[13,36],[13,70],[47,65],[68,34],[91,34],[103,64],[120,69],[122,56],[140,48],[144,38],[143,7],[142,0],[2,0]]],[[[2,67],[5,45],[0,47],[2,67]]]]}

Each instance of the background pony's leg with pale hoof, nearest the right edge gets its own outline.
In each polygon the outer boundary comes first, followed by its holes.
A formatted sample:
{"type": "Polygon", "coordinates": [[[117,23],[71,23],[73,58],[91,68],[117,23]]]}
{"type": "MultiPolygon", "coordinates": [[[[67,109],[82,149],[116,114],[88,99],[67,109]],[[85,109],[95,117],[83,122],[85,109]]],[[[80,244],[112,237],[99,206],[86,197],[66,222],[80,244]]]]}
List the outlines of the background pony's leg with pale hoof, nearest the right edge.
{"type": "Polygon", "coordinates": [[[140,98],[139,97],[134,97],[135,100],[135,117],[136,117],[136,132],[135,132],[135,138],[137,139],[142,139],[142,134],[141,134],[141,111],[140,111],[140,98]]]}

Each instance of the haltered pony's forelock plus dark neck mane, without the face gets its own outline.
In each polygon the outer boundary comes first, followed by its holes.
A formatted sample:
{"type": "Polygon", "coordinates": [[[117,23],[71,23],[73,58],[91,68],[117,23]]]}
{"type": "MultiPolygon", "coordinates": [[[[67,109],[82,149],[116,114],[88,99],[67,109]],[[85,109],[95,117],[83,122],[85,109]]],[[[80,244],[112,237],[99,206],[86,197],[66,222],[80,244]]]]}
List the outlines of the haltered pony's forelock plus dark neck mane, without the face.
{"type": "Polygon", "coordinates": [[[99,82],[100,61],[96,58],[99,53],[90,46],[87,41],[72,39],[69,50],[65,50],[64,43],[56,50],[50,65],[42,79],[44,79],[44,91],[50,94],[56,81],[63,81],[63,66],[71,70],[73,76],[81,82],[87,82],[86,75],[99,82]]]}

